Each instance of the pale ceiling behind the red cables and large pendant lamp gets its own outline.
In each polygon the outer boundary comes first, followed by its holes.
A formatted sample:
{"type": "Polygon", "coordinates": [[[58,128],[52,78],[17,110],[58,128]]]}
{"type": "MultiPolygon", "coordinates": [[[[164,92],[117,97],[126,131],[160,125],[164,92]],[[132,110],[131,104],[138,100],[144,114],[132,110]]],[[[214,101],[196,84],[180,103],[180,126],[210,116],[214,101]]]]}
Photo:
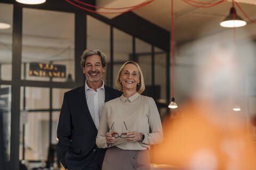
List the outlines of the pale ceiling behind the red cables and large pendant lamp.
{"type": "MultiPolygon", "coordinates": [[[[219,0],[197,0],[199,2],[214,3],[219,0]]],[[[105,7],[122,7],[137,5],[147,0],[125,1],[125,0],[97,0],[98,5],[105,7]],[[132,3],[132,4],[131,4],[132,3]]],[[[256,20],[256,1],[255,0],[238,0],[236,1],[242,7],[244,12],[252,19],[256,20]]],[[[217,32],[225,32],[230,29],[220,27],[219,23],[229,14],[232,3],[230,1],[223,2],[217,6],[210,8],[196,8],[183,2],[182,0],[174,0],[174,40],[180,43],[197,39],[201,36],[212,35],[217,32]]],[[[248,21],[238,7],[237,14],[245,21],[248,21]]],[[[100,9],[99,11],[105,11],[100,9]]],[[[133,11],[142,18],[171,31],[171,0],[155,0],[154,2],[138,8],[133,11]]],[[[108,18],[116,15],[103,14],[108,18]]],[[[246,32],[246,36],[254,38],[256,36],[256,24],[247,22],[247,26],[238,28],[246,32]],[[254,31],[255,30],[255,31],[254,31]]]]}

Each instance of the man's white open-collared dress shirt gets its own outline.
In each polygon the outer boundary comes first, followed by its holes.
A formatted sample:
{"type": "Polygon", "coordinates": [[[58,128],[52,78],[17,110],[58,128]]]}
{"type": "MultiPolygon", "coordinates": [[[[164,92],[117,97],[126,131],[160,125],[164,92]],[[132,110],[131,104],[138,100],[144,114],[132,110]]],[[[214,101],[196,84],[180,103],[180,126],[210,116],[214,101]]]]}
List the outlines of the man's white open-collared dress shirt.
{"type": "Polygon", "coordinates": [[[104,81],[102,80],[102,86],[98,88],[97,91],[94,91],[92,88],[88,87],[87,80],[86,80],[85,81],[85,97],[86,97],[87,106],[92,116],[92,120],[96,128],[98,129],[102,106],[105,104],[104,81]]]}

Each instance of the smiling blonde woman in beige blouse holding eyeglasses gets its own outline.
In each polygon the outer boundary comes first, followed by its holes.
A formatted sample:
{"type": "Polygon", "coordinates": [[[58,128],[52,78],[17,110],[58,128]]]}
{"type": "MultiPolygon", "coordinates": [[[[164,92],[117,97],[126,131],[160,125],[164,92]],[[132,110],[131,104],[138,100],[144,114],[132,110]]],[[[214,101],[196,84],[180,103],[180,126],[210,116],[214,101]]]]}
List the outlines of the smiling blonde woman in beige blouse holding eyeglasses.
{"type": "Polygon", "coordinates": [[[123,95],[103,106],[96,139],[99,148],[108,148],[102,170],[150,169],[150,145],[163,140],[163,130],[155,101],[140,95],[145,84],[138,63],[124,63],[116,88],[123,95]]]}

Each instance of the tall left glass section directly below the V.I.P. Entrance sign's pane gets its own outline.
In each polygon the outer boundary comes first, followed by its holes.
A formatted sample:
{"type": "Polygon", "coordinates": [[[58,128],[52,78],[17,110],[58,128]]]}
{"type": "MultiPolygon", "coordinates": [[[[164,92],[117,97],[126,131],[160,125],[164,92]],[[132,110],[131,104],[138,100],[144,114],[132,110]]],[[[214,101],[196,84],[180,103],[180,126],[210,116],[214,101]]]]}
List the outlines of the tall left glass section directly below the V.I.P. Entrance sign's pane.
{"type": "Polygon", "coordinates": [[[50,88],[21,87],[20,99],[20,159],[46,160],[50,88]]]}

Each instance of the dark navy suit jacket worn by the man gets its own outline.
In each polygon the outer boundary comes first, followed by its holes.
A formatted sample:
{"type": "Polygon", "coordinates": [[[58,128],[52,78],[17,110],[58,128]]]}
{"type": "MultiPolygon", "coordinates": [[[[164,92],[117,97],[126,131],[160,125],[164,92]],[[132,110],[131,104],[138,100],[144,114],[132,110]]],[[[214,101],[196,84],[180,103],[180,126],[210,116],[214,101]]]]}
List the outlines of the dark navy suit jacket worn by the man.
{"type": "MultiPolygon", "coordinates": [[[[121,91],[105,86],[105,102],[121,95],[121,91]]],[[[86,169],[94,155],[103,152],[99,159],[99,164],[102,165],[106,149],[96,146],[97,133],[86,103],[85,87],[66,92],[57,130],[57,157],[62,165],[69,170],[86,169]]]]}

